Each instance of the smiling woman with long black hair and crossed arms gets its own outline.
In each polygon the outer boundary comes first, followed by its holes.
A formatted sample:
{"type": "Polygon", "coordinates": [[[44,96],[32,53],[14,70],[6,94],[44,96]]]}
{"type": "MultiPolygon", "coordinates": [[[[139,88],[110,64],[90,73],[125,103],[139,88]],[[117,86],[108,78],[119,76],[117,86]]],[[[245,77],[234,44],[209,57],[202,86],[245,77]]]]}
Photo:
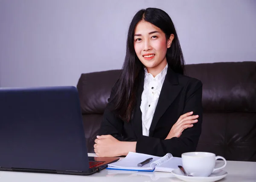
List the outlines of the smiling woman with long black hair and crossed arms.
{"type": "Polygon", "coordinates": [[[202,83],[184,75],[169,15],[142,9],[128,31],[125,61],[94,144],[97,156],[129,151],[164,156],[195,151],[202,124],[202,83]]]}

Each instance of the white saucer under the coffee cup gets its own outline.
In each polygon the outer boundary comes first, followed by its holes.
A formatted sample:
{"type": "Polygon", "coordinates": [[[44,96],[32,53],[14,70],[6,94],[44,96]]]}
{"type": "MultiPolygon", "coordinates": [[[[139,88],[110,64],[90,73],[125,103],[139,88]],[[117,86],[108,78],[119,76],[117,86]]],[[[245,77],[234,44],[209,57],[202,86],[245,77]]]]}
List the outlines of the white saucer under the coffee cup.
{"type": "Polygon", "coordinates": [[[215,182],[227,176],[227,172],[224,170],[216,170],[207,177],[185,176],[179,168],[172,170],[172,173],[176,178],[185,182],[215,182]]]}

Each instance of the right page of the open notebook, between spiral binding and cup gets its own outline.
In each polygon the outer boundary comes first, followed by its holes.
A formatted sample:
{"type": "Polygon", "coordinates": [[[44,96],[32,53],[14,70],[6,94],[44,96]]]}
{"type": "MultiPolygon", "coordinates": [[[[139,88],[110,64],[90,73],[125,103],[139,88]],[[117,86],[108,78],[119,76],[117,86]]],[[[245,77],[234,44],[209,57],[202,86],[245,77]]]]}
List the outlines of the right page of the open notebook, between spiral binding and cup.
{"type": "Polygon", "coordinates": [[[180,157],[172,157],[168,162],[156,166],[155,171],[165,171],[172,172],[172,170],[177,169],[178,165],[182,165],[182,160],[180,157]]]}

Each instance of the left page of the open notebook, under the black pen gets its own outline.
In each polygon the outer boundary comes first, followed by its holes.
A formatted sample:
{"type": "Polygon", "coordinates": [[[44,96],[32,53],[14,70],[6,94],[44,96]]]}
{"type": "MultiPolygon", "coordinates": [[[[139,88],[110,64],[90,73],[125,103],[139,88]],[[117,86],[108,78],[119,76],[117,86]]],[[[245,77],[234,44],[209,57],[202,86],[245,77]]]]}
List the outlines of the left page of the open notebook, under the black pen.
{"type": "Polygon", "coordinates": [[[143,153],[129,152],[124,159],[108,164],[108,167],[128,170],[152,170],[153,168],[150,167],[150,164],[160,158],[161,157],[151,156],[143,153]],[[143,162],[151,157],[153,158],[151,162],[149,162],[146,165],[143,165],[142,167],[138,167],[138,163],[143,162]]]}

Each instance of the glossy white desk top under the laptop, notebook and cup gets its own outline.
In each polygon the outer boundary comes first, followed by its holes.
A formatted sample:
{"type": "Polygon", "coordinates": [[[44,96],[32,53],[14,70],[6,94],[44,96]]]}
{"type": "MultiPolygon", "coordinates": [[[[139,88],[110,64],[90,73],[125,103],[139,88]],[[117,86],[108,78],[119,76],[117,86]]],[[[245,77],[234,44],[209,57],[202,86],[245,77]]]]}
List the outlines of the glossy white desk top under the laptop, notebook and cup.
{"type": "MultiPolygon", "coordinates": [[[[227,161],[224,170],[228,175],[218,182],[256,182],[256,162],[227,161]]],[[[172,173],[116,171],[104,169],[89,176],[0,171],[0,182],[182,182],[172,173]]]]}

